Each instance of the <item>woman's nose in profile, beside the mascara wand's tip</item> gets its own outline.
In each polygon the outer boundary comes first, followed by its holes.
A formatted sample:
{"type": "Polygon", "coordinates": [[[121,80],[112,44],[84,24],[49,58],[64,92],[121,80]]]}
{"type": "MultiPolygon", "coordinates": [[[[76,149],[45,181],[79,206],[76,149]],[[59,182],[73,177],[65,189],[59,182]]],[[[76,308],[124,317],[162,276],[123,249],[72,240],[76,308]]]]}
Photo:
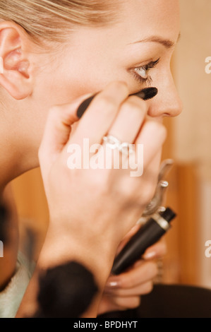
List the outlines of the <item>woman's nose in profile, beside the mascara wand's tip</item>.
{"type": "Polygon", "coordinates": [[[172,76],[160,85],[157,96],[150,101],[148,115],[150,117],[177,117],[182,112],[182,102],[176,90],[172,76]]]}

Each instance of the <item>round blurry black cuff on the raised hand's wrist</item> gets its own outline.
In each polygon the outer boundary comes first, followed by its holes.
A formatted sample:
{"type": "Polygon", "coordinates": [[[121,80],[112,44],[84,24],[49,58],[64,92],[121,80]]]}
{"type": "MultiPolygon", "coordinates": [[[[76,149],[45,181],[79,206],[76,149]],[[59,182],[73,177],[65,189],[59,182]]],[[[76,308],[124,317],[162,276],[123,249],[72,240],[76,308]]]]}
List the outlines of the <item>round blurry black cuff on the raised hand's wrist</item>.
{"type": "Polygon", "coordinates": [[[94,275],[77,261],[40,274],[39,309],[34,318],[77,318],[97,294],[94,275]]]}

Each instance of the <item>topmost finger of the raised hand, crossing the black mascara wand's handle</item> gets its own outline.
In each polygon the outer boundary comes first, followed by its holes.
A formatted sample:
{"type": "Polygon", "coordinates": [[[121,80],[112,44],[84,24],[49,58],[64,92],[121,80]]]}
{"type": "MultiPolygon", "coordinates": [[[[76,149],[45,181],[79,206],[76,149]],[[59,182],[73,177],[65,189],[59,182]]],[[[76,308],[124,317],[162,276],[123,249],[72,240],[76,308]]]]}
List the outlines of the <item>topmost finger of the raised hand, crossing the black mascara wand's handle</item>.
{"type": "Polygon", "coordinates": [[[128,87],[123,82],[113,82],[99,93],[80,119],[78,128],[71,138],[71,143],[82,144],[88,138],[90,145],[102,143],[111,124],[119,112],[121,104],[128,97],[128,87]]]}

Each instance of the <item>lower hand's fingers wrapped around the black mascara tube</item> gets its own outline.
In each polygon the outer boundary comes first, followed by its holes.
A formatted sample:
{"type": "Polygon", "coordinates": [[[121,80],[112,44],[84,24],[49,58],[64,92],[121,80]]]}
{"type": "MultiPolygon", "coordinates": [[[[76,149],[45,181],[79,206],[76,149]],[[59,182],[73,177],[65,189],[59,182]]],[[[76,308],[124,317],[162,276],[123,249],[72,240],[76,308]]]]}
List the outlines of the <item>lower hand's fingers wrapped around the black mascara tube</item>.
{"type": "MultiPolygon", "coordinates": [[[[123,241],[119,251],[124,244],[123,241]]],[[[98,315],[138,307],[141,295],[146,295],[152,291],[153,281],[158,273],[157,259],[162,259],[166,251],[167,247],[162,239],[148,248],[143,259],[137,261],[128,271],[120,275],[111,275],[104,289],[98,315]]]]}

